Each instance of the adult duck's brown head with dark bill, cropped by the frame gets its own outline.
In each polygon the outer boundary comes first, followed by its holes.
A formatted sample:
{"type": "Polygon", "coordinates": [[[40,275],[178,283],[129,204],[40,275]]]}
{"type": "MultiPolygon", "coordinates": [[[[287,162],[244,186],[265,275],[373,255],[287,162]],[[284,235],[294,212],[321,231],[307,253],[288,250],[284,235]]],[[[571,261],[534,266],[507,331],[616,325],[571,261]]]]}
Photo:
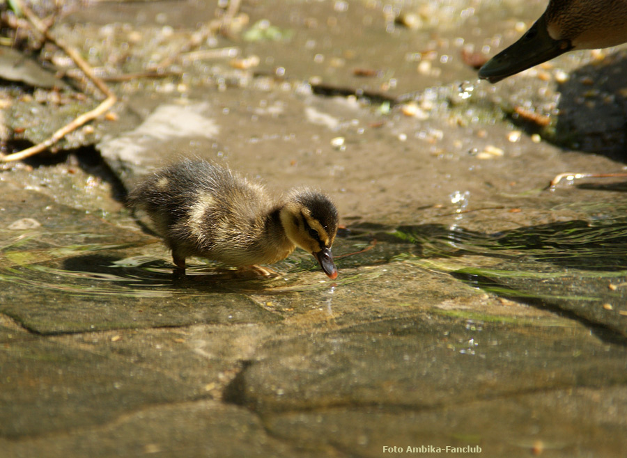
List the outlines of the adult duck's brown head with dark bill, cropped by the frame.
{"type": "Polygon", "coordinates": [[[627,42],[626,0],[550,0],[522,38],[490,59],[479,78],[496,83],[575,49],[627,42]]]}

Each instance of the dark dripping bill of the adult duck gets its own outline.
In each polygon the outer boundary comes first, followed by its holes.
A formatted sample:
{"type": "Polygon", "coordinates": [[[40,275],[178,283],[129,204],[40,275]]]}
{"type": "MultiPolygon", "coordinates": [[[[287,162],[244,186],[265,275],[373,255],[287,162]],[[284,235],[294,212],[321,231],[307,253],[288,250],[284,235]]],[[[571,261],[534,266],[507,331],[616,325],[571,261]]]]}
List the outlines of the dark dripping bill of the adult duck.
{"type": "Polygon", "coordinates": [[[479,70],[479,78],[496,83],[534,65],[549,61],[573,49],[570,40],[555,40],[548,33],[545,16],[520,40],[491,58],[479,70]]]}

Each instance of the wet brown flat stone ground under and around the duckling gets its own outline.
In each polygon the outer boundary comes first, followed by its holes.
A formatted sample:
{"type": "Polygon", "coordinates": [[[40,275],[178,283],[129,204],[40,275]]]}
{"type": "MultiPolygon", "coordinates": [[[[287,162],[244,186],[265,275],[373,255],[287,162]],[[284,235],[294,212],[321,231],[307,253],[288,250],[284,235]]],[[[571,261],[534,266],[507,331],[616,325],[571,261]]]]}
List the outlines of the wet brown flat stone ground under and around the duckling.
{"type": "MultiPolygon", "coordinates": [[[[0,171],[0,455],[624,456],[625,183],[545,190],[623,168],[623,54],[490,86],[463,50],[544,3],[440,3],[242,1],[181,55],[216,2],[68,3],[53,31],[102,74],[171,63],[0,171]],[[189,155],[330,194],[336,281],[299,251],[176,275],[123,199],[189,155]]],[[[8,145],[98,103],[43,75],[3,88],[8,145]]]]}

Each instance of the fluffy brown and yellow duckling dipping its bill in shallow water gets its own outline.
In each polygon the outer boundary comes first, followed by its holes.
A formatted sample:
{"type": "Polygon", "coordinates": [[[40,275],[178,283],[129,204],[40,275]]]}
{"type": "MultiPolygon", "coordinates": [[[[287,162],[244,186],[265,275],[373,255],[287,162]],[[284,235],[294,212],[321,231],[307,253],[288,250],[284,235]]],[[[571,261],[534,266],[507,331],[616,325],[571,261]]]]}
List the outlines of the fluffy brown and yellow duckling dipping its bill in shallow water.
{"type": "Polygon", "coordinates": [[[274,201],[261,184],[208,161],[185,159],[139,184],[128,203],[148,214],[183,271],[192,255],[256,267],[300,246],[329,278],[337,277],[331,253],[337,210],[318,191],[292,189],[274,201]]]}

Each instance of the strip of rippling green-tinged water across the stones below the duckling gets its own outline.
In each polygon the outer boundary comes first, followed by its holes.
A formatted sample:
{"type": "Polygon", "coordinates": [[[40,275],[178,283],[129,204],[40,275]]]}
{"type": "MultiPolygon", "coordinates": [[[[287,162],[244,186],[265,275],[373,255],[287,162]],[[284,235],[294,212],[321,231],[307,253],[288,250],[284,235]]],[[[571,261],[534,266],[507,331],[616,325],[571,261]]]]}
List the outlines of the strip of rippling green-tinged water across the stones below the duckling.
{"type": "Polygon", "coordinates": [[[270,278],[202,260],[196,260],[186,275],[177,275],[153,239],[143,244],[52,247],[42,246],[36,237],[14,242],[3,247],[0,282],[31,287],[22,294],[31,294],[34,287],[77,297],[222,304],[226,297],[248,303],[261,295],[296,298],[300,293],[325,292],[322,300],[332,313],[336,288],[352,283],[371,285],[385,276],[389,287],[406,294],[416,287],[415,279],[403,281],[405,274],[398,272],[410,265],[417,271],[449,274],[451,281],[456,278],[501,297],[566,310],[627,335],[627,217],[496,233],[442,224],[390,228],[359,223],[336,240],[340,276],[334,282],[326,280],[307,253],[294,253],[273,266],[281,274],[270,278]],[[151,250],[159,255],[148,255],[151,250]]]}

